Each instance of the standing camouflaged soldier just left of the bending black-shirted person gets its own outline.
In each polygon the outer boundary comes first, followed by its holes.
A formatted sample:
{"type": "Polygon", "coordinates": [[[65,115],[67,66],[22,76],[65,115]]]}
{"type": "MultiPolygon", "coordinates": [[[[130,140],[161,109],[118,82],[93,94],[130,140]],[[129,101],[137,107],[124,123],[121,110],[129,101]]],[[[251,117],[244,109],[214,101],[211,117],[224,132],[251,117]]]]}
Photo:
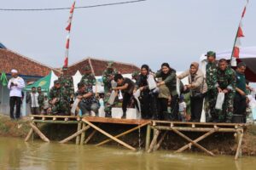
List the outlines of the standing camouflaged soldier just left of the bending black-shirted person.
{"type": "Polygon", "coordinates": [[[103,72],[102,81],[104,84],[104,105],[105,112],[110,116],[111,106],[108,105],[108,99],[112,91],[112,84],[114,75],[117,74],[117,71],[113,68],[113,62],[109,62],[107,69],[103,72]]]}

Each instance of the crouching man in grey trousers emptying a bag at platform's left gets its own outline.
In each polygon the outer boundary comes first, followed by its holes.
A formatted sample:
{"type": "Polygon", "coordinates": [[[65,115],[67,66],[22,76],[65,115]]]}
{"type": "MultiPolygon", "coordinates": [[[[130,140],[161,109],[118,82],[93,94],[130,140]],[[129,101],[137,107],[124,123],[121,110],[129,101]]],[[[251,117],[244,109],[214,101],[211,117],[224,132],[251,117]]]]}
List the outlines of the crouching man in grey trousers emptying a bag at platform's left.
{"type": "Polygon", "coordinates": [[[75,97],[80,99],[79,108],[84,116],[96,116],[100,108],[99,101],[93,94],[91,86],[85,86],[84,82],[78,83],[79,90],[75,93],[75,97]]]}

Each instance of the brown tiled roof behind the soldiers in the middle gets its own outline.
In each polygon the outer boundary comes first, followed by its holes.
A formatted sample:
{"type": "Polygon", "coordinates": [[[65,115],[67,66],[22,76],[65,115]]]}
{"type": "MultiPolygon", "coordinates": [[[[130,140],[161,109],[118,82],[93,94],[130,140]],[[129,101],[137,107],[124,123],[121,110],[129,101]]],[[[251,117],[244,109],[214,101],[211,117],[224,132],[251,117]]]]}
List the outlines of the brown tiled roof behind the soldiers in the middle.
{"type": "MultiPolygon", "coordinates": [[[[84,74],[84,67],[86,65],[92,65],[92,68],[95,72],[96,76],[102,76],[103,71],[107,68],[108,62],[110,60],[105,59],[94,59],[94,58],[87,58],[83,59],[73,65],[68,67],[68,74],[74,75],[76,71],[80,71],[81,74],[84,74]]],[[[113,61],[113,68],[117,71],[120,71],[121,74],[129,74],[133,71],[139,71],[139,68],[136,65],[128,64],[128,63],[121,63],[117,61],[113,61]]]]}

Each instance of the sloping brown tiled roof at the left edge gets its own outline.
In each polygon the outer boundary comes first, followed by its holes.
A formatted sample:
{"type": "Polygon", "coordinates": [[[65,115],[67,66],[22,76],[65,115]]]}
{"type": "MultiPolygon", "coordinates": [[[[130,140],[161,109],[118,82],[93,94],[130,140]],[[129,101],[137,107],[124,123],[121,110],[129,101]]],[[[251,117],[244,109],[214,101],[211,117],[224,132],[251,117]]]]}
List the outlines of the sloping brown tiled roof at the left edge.
{"type": "MultiPolygon", "coordinates": [[[[49,71],[54,70],[9,49],[0,48],[0,71],[10,73],[12,69],[19,71],[20,75],[34,77],[45,77],[49,74],[49,71]]],[[[58,71],[55,71],[55,73],[58,73],[58,71]]]]}

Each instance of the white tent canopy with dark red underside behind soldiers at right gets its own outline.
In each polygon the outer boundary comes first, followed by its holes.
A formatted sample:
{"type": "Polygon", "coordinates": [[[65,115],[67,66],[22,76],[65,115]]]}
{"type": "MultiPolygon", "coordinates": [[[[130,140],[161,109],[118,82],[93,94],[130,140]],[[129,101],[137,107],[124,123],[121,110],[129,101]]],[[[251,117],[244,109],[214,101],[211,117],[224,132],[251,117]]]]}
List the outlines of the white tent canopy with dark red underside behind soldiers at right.
{"type": "MultiPolygon", "coordinates": [[[[232,51],[223,51],[216,53],[216,59],[230,59],[232,51]]],[[[202,70],[205,70],[207,65],[207,57],[205,54],[201,55],[202,70]]],[[[240,48],[239,59],[236,59],[237,63],[244,62],[247,65],[245,72],[246,78],[249,82],[256,82],[256,47],[240,48]]]]}

